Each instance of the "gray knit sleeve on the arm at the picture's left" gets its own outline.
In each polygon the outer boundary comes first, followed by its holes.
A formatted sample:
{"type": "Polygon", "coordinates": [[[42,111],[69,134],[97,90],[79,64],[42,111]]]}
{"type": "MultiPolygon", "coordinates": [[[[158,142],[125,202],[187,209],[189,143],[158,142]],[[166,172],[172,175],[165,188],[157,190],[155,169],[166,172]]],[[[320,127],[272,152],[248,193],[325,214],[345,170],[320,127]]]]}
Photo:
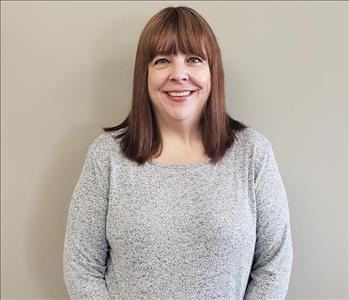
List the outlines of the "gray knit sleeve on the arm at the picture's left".
{"type": "Polygon", "coordinates": [[[106,282],[109,164],[103,140],[88,149],[67,218],[63,276],[71,299],[111,299],[106,282]]]}

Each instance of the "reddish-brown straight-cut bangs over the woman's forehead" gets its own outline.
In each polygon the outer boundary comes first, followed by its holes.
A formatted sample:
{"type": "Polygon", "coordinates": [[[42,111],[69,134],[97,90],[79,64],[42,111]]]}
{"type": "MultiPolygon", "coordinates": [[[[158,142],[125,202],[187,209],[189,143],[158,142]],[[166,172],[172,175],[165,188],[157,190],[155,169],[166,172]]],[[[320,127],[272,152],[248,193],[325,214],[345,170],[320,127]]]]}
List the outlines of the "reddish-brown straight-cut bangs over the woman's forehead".
{"type": "Polygon", "coordinates": [[[147,43],[146,59],[150,62],[157,55],[193,54],[207,60],[205,35],[202,25],[192,16],[172,10],[154,26],[147,43]]]}

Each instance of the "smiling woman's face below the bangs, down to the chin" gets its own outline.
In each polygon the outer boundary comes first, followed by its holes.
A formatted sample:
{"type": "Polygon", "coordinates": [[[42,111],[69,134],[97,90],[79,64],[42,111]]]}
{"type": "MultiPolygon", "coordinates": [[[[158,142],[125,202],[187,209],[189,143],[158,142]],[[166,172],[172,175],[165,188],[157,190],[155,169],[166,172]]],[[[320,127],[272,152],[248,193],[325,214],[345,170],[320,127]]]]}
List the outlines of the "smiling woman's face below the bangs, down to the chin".
{"type": "Polygon", "coordinates": [[[200,119],[210,91],[210,68],[201,57],[181,52],[157,55],[148,65],[148,92],[161,119],[192,124],[200,119]]]}

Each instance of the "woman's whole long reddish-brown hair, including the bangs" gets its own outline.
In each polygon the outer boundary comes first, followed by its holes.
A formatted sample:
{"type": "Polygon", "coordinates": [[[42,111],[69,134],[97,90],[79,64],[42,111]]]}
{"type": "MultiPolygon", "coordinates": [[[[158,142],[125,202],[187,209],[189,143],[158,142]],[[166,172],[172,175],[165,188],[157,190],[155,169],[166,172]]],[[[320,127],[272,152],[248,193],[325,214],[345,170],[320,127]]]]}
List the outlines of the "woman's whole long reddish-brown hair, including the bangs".
{"type": "Polygon", "coordinates": [[[177,54],[178,50],[203,57],[209,63],[211,92],[201,115],[200,128],[211,163],[220,161],[233,145],[235,133],[247,128],[226,111],[221,51],[211,27],[192,8],[167,7],[148,21],[140,35],[128,116],[117,126],[103,128],[106,132],[125,129],[115,138],[121,139],[122,153],[138,164],[144,164],[162,151],[160,130],[148,93],[148,64],[159,53],[177,54]]]}

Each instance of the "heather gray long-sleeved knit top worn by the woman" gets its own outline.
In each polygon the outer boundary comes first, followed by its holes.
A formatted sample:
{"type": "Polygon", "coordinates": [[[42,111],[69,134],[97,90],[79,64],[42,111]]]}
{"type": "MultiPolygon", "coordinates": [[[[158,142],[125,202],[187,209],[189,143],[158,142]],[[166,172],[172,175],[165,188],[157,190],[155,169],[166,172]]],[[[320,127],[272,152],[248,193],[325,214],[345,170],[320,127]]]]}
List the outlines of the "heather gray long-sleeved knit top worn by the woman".
{"type": "Polygon", "coordinates": [[[285,298],[288,201],[262,133],[238,132],[217,165],[143,166],[121,154],[115,134],[91,143],[71,198],[63,253],[71,299],[285,298]]]}

